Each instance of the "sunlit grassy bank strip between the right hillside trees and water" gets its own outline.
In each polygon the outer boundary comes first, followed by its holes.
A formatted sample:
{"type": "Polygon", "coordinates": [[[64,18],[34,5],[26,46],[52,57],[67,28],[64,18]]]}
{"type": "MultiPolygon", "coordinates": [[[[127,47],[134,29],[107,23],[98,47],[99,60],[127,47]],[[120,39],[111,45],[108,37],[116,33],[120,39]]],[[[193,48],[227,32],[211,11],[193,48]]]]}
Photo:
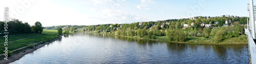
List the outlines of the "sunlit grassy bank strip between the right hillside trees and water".
{"type": "MultiPolygon", "coordinates": [[[[89,32],[95,33],[95,32],[89,32]]],[[[108,34],[109,33],[99,33],[99,34],[108,34]]],[[[179,41],[169,41],[167,36],[157,36],[156,39],[148,39],[148,38],[140,38],[138,36],[130,37],[130,36],[120,36],[127,38],[135,38],[135,39],[144,39],[144,40],[152,40],[152,41],[161,41],[168,43],[182,43],[182,44],[197,44],[197,45],[245,45],[248,44],[247,36],[241,35],[239,37],[232,38],[224,38],[222,41],[214,41],[214,37],[204,38],[204,37],[188,37],[188,39],[184,42],[179,41]]]]}

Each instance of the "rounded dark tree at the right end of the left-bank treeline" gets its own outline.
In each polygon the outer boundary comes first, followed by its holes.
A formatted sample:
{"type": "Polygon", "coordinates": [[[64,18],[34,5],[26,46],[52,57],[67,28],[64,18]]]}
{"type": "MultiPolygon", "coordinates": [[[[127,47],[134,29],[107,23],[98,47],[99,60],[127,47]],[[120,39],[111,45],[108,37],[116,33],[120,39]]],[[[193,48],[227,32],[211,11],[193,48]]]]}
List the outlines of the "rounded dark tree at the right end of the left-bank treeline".
{"type": "Polygon", "coordinates": [[[32,26],[31,28],[36,34],[42,33],[42,29],[44,29],[44,27],[42,27],[42,24],[39,21],[35,22],[35,25],[32,26]]]}

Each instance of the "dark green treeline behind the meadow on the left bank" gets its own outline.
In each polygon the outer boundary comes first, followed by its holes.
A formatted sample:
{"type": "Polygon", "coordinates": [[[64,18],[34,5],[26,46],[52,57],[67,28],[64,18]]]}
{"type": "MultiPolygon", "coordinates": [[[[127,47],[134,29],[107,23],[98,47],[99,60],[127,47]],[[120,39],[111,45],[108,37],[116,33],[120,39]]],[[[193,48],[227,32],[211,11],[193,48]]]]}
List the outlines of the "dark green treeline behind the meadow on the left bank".
{"type": "MultiPolygon", "coordinates": [[[[4,29],[5,22],[0,21],[0,33],[5,33],[4,29]]],[[[42,32],[42,25],[40,22],[36,22],[35,25],[30,26],[27,22],[23,23],[18,19],[11,20],[7,22],[8,24],[8,32],[10,35],[13,34],[31,34],[31,33],[41,33],[42,32]]]]}

